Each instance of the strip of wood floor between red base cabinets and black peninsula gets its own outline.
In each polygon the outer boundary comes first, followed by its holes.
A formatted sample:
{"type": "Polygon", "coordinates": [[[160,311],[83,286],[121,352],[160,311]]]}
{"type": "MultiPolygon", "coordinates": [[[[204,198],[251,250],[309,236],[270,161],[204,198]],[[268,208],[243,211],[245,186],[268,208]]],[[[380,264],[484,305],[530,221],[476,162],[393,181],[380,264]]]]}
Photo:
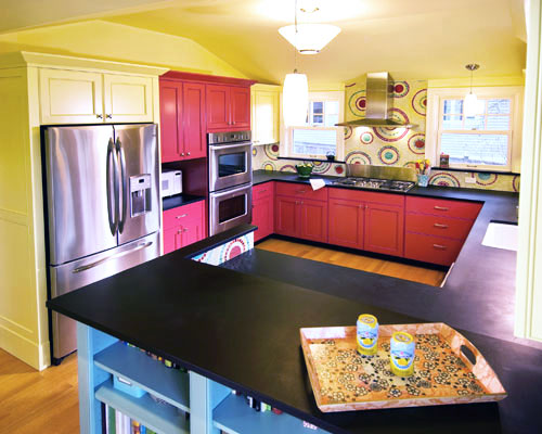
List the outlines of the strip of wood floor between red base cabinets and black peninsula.
{"type": "Polygon", "coordinates": [[[440,270],[395,263],[392,260],[376,259],[353,253],[317,247],[284,240],[269,239],[258,244],[256,248],[411,280],[434,286],[440,286],[440,283],[446,277],[446,272],[440,270]]]}

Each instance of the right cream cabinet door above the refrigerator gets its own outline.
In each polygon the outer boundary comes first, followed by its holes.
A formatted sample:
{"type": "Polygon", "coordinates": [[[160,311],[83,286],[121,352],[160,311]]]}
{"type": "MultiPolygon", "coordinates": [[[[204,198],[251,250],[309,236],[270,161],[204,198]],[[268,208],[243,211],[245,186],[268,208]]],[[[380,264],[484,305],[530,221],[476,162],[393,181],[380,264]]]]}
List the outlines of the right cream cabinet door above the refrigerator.
{"type": "Polygon", "coordinates": [[[104,74],[104,110],[107,123],[153,122],[153,79],[104,74]]]}

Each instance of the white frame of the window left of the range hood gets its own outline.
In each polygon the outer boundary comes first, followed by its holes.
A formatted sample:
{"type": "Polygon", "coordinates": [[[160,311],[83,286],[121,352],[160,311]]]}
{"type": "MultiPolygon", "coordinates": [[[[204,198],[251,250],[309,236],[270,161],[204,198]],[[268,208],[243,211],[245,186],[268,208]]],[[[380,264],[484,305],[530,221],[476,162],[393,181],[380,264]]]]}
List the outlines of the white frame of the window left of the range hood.
{"type": "MultiPolygon", "coordinates": [[[[345,119],[345,92],[344,91],[327,91],[327,92],[309,92],[309,103],[312,101],[337,101],[339,102],[339,123],[345,119]]],[[[296,159],[326,159],[325,155],[307,155],[299,156],[294,153],[293,137],[294,128],[297,129],[323,129],[335,130],[337,132],[337,153],[335,161],[345,159],[345,131],[344,127],[311,127],[300,125],[298,127],[286,127],[284,125],[282,115],[282,93],[281,93],[281,156],[296,158],[296,159]]]]}

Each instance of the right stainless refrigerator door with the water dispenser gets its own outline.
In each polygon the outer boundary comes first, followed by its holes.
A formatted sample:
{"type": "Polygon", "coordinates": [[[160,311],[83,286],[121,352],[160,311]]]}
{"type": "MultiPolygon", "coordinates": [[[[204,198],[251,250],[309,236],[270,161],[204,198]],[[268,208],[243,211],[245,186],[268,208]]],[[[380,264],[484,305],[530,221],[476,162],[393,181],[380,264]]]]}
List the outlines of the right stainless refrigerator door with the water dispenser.
{"type": "Polygon", "coordinates": [[[159,229],[156,125],[115,125],[119,171],[118,244],[159,229]]]}

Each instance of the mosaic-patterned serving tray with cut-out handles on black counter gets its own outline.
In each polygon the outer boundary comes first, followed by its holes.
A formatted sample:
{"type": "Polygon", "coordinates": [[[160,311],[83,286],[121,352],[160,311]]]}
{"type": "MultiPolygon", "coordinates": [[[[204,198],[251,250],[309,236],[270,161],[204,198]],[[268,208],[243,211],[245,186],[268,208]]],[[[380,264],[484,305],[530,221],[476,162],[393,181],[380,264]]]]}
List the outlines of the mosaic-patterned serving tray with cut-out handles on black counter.
{"type": "MultiPolygon", "coordinates": [[[[323,412],[500,400],[501,382],[480,352],[451,327],[438,323],[380,326],[378,353],[361,356],[356,327],[300,329],[317,405],[323,412]],[[414,374],[389,368],[389,340],[405,331],[416,341],[414,374]],[[465,356],[470,350],[475,362],[465,356]]],[[[472,357],[470,356],[470,357],[472,357]]]]}

